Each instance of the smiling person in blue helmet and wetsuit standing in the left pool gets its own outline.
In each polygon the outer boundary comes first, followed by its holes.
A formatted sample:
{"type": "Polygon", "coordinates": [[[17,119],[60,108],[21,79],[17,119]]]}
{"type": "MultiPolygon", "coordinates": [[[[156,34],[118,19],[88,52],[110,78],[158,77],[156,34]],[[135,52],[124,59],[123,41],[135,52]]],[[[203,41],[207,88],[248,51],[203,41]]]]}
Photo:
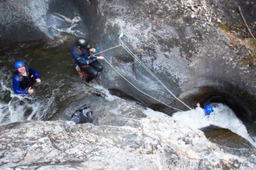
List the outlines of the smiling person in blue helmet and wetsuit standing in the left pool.
{"type": "Polygon", "coordinates": [[[16,62],[14,67],[16,68],[13,79],[14,93],[33,94],[33,84],[41,82],[38,72],[32,67],[26,67],[21,61],[16,62]]]}

